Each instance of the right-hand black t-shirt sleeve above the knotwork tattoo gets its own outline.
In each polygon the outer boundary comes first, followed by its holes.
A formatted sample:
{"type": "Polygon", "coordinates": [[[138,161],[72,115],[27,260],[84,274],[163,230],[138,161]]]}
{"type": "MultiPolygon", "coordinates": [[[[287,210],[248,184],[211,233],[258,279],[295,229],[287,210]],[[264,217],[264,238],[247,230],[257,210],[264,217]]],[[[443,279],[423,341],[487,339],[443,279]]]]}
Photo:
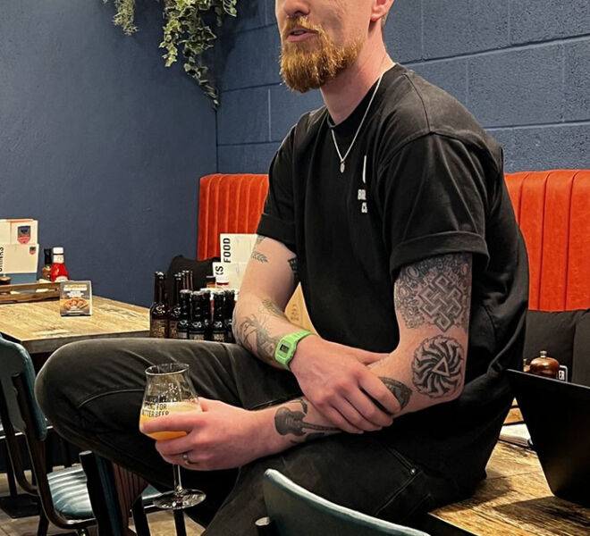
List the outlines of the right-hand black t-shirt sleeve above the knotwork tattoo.
{"type": "Polygon", "coordinates": [[[485,257],[485,170],[475,151],[438,134],[410,141],[380,166],[376,202],[390,274],[433,255],[485,257]]]}

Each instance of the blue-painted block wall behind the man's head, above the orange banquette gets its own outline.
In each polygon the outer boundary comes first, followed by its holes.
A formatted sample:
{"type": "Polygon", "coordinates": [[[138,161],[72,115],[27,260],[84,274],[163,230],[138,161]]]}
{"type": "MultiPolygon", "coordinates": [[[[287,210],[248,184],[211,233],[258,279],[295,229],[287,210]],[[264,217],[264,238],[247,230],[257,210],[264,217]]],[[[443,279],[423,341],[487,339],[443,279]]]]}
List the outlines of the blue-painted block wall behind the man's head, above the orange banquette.
{"type": "MultiPolygon", "coordinates": [[[[274,1],[241,4],[218,59],[218,168],[266,172],[321,98],[281,84],[274,1]]],[[[457,97],[502,143],[506,171],[590,168],[588,0],[397,0],[385,35],[396,61],[457,97]]]]}

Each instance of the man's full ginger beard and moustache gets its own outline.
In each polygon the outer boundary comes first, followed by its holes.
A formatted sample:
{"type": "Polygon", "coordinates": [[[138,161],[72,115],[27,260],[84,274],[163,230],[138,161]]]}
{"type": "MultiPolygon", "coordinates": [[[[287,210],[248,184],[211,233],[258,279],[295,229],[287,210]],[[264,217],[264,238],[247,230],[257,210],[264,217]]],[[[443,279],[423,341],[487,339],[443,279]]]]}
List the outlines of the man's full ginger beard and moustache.
{"type": "Polygon", "coordinates": [[[324,29],[311,24],[307,17],[291,19],[282,32],[282,80],[300,93],[321,88],[328,80],[350,67],[359,51],[358,41],[340,48],[333,44],[324,29]],[[305,41],[290,42],[287,38],[295,28],[309,29],[315,35],[305,41]]]}

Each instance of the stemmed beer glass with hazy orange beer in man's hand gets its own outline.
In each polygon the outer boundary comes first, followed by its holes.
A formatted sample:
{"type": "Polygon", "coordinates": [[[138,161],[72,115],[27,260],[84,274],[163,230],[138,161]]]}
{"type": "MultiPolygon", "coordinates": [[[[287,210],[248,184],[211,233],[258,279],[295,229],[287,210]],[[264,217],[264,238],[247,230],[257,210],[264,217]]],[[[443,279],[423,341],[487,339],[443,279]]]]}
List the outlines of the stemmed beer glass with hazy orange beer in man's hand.
{"type": "MultiPolygon", "coordinates": [[[[189,377],[189,365],[180,363],[155,364],[146,369],[146,390],[141,405],[139,423],[162,415],[201,411],[198,397],[189,377]]],[[[156,431],[147,436],[154,440],[173,440],[186,435],[186,431],[156,431]]],[[[154,499],[159,508],[181,510],[194,507],[205,499],[199,490],[182,488],[181,468],[173,465],[174,489],[154,499]]]]}

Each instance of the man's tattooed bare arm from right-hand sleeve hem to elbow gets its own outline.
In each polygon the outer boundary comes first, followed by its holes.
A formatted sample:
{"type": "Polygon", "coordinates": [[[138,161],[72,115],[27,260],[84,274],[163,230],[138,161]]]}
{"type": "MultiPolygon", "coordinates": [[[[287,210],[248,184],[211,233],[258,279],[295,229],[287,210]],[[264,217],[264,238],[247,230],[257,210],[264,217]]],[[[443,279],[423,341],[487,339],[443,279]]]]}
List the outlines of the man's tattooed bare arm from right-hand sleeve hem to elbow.
{"type": "Polygon", "coordinates": [[[470,254],[437,255],[400,270],[394,286],[400,344],[369,367],[405,393],[399,413],[447,402],[463,390],[471,263],[470,254]]]}

